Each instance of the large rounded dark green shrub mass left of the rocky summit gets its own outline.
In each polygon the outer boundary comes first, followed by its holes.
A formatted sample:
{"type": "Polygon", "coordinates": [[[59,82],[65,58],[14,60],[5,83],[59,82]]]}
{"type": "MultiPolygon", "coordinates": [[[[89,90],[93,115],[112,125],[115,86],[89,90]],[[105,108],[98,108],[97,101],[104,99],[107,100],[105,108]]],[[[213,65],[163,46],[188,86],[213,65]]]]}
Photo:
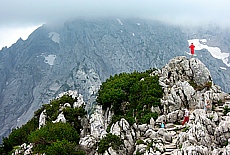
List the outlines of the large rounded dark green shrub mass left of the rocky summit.
{"type": "Polygon", "coordinates": [[[97,102],[103,109],[112,107],[114,116],[111,123],[121,117],[130,125],[135,120],[137,123],[149,123],[151,117],[158,117],[157,113],[151,112],[151,107],[160,105],[163,91],[158,76],[149,75],[152,71],[121,73],[102,83],[97,102]]]}

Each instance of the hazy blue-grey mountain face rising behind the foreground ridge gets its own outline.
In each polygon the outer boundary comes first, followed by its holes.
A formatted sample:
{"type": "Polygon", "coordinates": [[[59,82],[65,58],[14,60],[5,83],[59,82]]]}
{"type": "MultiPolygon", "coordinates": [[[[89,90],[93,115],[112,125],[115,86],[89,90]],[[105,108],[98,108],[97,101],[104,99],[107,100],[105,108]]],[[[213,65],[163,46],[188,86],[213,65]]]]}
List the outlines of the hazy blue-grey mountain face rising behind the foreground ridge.
{"type": "MultiPolygon", "coordinates": [[[[63,91],[77,90],[89,108],[110,75],[162,67],[187,49],[187,34],[181,28],[155,21],[43,25],[27,40],[0,51],[0,141],[63,91]]],[[[210,66],[213,80],[228,91],[230,78],[219,71],[219,61],[208,53],[201,60],[210,66]]]]}

